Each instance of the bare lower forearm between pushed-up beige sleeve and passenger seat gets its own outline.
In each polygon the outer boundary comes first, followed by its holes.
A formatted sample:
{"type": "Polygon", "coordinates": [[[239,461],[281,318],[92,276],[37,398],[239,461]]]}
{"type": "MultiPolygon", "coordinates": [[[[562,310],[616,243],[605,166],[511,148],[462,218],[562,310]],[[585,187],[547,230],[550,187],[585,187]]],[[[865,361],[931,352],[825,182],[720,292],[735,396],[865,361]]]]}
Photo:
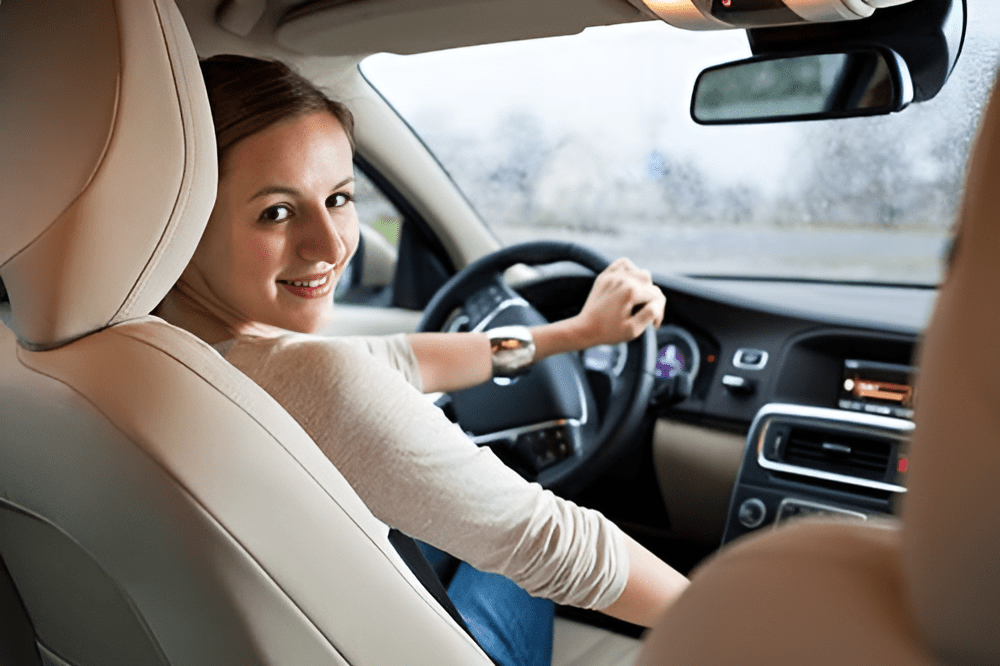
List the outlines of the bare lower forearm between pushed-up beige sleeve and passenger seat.
{"type": "Polygon", "coordinates": [[[625,590],[602,613],[643,627],[657,618],[688,586],[688,579],[670,565],[625,535],[628,551],[628,582],[625,590]]]}

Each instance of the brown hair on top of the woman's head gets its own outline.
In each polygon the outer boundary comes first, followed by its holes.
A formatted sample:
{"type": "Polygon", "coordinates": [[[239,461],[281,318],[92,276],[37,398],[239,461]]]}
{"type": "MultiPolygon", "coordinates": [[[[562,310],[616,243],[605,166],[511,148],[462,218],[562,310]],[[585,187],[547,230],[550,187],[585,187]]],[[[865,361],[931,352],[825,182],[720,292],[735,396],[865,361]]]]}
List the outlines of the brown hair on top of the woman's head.
{"type": "Polygon", "coordinates": [[[328,111],[354,150],[354,116],[305,77],[276,60],[217,55],[201,61],[215,123],[219,168],[234,145],[275,123],[328,111]]]}

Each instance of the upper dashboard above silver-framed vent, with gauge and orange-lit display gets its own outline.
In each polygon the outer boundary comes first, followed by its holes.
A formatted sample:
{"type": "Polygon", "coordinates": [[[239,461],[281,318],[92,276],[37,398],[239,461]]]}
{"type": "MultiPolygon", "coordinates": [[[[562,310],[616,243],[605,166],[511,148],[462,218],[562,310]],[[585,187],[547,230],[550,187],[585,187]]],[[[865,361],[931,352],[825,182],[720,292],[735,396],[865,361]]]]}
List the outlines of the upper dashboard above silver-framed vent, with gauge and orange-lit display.
{"type": "Polygon", "coordinates": [[[692,377],[673,417],[746,429],[783,402],[912,416],[911,366],[933,289],[659,278],[657,381],[692,377]]]}

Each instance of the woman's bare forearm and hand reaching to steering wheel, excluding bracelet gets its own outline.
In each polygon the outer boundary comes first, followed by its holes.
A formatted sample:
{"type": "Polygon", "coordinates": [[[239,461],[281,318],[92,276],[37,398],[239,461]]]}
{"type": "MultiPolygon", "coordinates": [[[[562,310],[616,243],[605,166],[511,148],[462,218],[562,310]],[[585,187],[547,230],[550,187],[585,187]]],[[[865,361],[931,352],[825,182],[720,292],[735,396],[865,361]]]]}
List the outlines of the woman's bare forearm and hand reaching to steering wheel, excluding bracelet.
{"type": "MultiPolygon", "coordinates": [[[[578,315],[531,329],[535,361],[633,340],[646,326],[660,325],[665,303],[648,271],[619,259],[597,276],[578,315]]],[[[484,333],[413,333],[408,339],[427,393],[456,391],[492,377],[490,343],[484,333]]]]}

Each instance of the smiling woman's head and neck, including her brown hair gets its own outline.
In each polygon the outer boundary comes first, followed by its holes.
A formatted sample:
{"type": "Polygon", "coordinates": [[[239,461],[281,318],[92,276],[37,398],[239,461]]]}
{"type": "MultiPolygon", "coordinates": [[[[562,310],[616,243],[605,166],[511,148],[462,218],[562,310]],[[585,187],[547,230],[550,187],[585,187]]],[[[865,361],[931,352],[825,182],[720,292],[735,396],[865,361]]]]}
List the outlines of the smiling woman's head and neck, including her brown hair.
{"type": "Polygon", "coordinates": [[[353,119],[277,62],[202,65],[219,189],[194,258],[159,313],[211,343],[315,332],[358,246],[353,119]],[[239,168],[252,164],[255,168],[239,168]]]}

